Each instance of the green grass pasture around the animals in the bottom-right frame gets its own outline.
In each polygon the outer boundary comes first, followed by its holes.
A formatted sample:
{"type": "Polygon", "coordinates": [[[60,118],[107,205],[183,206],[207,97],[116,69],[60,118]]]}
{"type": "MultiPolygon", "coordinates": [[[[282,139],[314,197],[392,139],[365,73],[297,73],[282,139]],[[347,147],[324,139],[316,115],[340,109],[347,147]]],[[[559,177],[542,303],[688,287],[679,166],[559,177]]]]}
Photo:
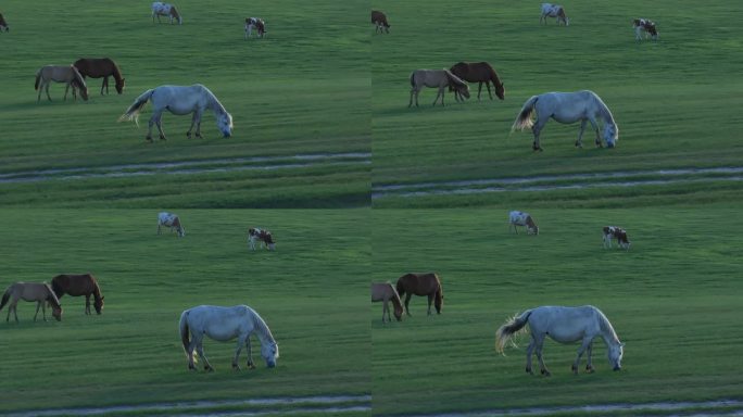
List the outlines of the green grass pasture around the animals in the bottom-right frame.
{"type": "MultiPolygon", "coordinates": [[[[414,296],[413,316],[402,323],[382,325],[381,305],[370,305],[375,414],[547,407],[551,413],[538,415],[635,415],[624,406],[716,400],[738,401],[740,410],[743,222],[736,210],[532,210],[539,236],[509,233],[507,213],[374,210],[372,279],[436,271],[444,294],[441,315],[427,317],[426,299],[414,296]],[[602,249],[607,224],[627,228],[629,251],[602,249]],[[495,330],[514,314],[584,304],[601,308],[626,343],[620,371],[612,371],[601,340],[590,375],[582,371],[585,356],[580,375],[570,371],[578,344],[545,342],[550,378],[539,369],[525,372],[526,334],[506,356],[495,352],[495,330]],[[620,409],[569,408],[606,404],[620,409]]],[[[652,410],[671,413],[683,412],[652,410]]]]}

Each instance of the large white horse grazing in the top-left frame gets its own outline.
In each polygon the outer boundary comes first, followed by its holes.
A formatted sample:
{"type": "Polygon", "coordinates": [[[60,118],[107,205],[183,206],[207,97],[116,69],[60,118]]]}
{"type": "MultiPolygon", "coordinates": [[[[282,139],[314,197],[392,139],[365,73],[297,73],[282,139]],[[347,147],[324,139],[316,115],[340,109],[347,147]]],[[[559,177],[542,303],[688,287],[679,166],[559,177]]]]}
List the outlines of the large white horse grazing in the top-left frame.
{"type": "Polygon", "coordinates": [[[147,131],[147,140],[152,141],[152,125],[158,125],[160,131],[160,139],[165,140],[165,132],[163,132],[162,115],[163,111],[177,115],[193,113],[191,119],[191,127],[186,132],[188,138],[191,137],[193,125],[197,126],[196,137],[201,138],[201,115],[204,110],[209,109],[214,112],[217,127],[225,138],[232,135],[232,116],[227,113],[225,106],[209,90],[209,88],[201,84],[192,86],[160,86],[151,90],[144,91],[135,100],[134,104],[126,110],[126,112],[118,117],[118,122],[131,121],[134,118],[137,126],[139,126],[139,112],[144,108],[148,101],[152,101],[154,111],[150,117],[149,130],[147,131]]]}

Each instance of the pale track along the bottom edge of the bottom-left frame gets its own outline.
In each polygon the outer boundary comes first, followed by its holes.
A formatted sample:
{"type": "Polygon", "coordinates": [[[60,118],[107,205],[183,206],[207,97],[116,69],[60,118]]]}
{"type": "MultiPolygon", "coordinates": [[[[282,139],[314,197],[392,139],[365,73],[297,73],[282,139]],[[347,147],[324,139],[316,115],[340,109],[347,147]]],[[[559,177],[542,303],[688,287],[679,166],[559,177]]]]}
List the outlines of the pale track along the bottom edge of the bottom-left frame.
{"type": "MultiPolygon", "coordinates": [[[[372,395],[328,395],[328,396],[304,396],[304,397],[272,397],[272,399],[251,399],[239,401],[196,401],[179,403],[142,404],[142,405],[118,405],[111,407],[89,407],[89,408],[59,408],[59,409],[38,409],[32,412],[9,414],[9,417],[32,417],[32,416],[97,416],[106,414],[123,413],[158,413],[168,415],[168,410],[175,413],[187,412],[189,416],[198,416],[194,412],[206,412],[209,416],[263,416],[272,414],[331,414],[349,412],[369,412],[372,409],[372,395]],[[270,407],[293,407],[293,409],[270,407]],[[239,410],[215,410],[219,407],[240,408],[239,410]],[[319,408],[318,408],[319,407],[319,408]]],[[[175,414],[174,413],[174,414],[175,414]]]]}

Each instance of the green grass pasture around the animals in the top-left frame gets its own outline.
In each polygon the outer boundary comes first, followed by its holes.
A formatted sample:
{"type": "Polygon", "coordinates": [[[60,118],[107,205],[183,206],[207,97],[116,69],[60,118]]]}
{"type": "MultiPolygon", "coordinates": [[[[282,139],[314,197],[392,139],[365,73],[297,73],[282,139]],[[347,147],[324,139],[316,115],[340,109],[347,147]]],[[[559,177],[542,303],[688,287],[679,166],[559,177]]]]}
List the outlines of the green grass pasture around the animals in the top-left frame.
{"type": "MultiPolygon", "coordinates": [[[[358,1],[244,4],[178,1],[184,24],[152,23],[152,2],[4,2],[0,39],[0,201],[70,207],[348,207],[368,204],[369,36],[358,1]],[[244,18],[266,20],[244,39],[244,18]],[[122,96],[37,104],[36,72],[79,58],[113,59],[122,96]],[[166,113],[167,141],[144,141],[149,103],[116,123],[143,91],[203,84],[235,119],[222,138],[205,112],[203,139],[189,116],[166,113]],[[354,157],[349,156],[354,154],[354,157]],[[312,187],[310,187],[312,186],[312,187]],[[245,192],[250,190],[250,192],[245,192]]],[[[163,20],[166,22],[166,20],[163,20]]]]}

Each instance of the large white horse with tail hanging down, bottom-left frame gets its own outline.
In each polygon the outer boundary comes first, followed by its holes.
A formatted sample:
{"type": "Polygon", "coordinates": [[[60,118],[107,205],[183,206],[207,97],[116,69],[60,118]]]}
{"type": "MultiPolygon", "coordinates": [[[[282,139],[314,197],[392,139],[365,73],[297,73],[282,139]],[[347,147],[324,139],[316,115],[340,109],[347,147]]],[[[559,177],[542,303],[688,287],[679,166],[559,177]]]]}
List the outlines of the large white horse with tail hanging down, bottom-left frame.
{"type": "Polygon", "coordinates": [[[204,355],[204,334],[219,342],[228,342],[237,338],[238,343],[232,357],[232,368],[239,370],[238,356],[242,346],[248,348],[248,367],[255,368],[253,352],[250,345],[250,336],[255,333],[261,341],[261,356],[266,361],[266,366],[276,366],[279,357],[278,344],[274,340],[266,323],[259,314],[247,305],[221,307],[216,305],[199,305],[185,311],[180,315],[180,339],[188,357],[188,368],[196,369],[194,353],[204,361],[204,369],[214,370],[204,355]],[[189,332],[191,340],[189,340],[189,332]]]}

